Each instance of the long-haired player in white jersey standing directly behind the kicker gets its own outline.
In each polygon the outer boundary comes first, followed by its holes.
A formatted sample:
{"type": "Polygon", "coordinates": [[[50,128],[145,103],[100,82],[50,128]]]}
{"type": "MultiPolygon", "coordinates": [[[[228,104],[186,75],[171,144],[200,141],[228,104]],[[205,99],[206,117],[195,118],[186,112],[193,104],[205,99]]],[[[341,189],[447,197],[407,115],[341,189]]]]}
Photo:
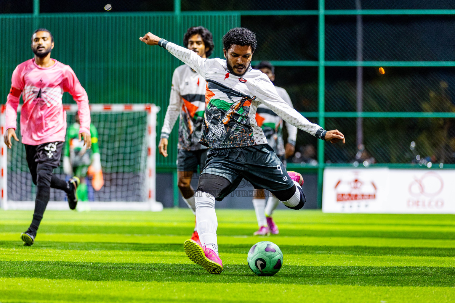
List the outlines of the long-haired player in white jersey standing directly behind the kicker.
{"type": "MultiPolygon", "coordinates": [[[[213,51],[212,33],[202,26],[190,27],[183,36],[183,45],[201,58],[207,58],[213,51]]],[[[199,143],[202,134],[205,105],[205,79],[188,65],[180,65],[172,75],[171,97],[167,106],[158,144],[160,154],[167,157],[167,140],[177,117],[178,126],[177,185],[183,200],[196,214],[194,189],[191,186],[193,172],[197,165],[202,172],[207,160],[207,147],[199,143]]],[[[196,224],[192,240],[199,242],[196,224]]]]}

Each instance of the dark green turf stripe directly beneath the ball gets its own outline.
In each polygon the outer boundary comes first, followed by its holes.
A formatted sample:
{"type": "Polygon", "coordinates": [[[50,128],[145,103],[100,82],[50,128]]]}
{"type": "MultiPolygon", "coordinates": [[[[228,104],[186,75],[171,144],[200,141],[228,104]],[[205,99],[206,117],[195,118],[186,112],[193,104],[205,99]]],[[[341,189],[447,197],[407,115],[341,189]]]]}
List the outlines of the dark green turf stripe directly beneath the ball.
{"type": "MultiPolygon", "coordinates": [[[[453,268],[368,267],[368,266],[293,266],[273,277],[258,277],[248,265],[226,264],[219,275],[207,273],[196,264],[180,263],[96,263],[96,262],[4,262],[4,278],[78,279],[93,281],[255,283],[299,285],[365,285],[453,287],[453,268]]],[[[361,301],[357,301],[361,302],[361,301]]],[[[434,302],[434,301],[430,301],[434,302]]]]}

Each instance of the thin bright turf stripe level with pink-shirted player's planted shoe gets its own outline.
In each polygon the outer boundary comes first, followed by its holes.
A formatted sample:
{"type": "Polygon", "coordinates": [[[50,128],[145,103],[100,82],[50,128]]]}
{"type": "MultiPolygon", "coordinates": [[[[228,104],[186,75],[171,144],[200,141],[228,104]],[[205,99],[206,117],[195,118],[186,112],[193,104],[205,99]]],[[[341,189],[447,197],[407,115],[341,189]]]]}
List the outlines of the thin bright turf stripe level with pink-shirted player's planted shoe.
{"type": "MultiPolygon", "coordinates": [[[[20,241],[20,233],[0,233],[0,241],[20,241]]],[[[189,236],[189,235],[188,235],[189,236]]],[[[116,242],[116,243],[175,243],[182,244],[188,236],[144,235],[116,233],[39,233],[36,241],[54,242],[116,242]]],[[[272,241],[277,245],[330,245],[330,246],[371,246],[371,247],[441,247],[455,248],[455,240],[450,239],[407,239],[407,238],[368,238],[368,237],[255,237],[218,235],[219,244],[251,244],[259,241],[272,241]]]]}

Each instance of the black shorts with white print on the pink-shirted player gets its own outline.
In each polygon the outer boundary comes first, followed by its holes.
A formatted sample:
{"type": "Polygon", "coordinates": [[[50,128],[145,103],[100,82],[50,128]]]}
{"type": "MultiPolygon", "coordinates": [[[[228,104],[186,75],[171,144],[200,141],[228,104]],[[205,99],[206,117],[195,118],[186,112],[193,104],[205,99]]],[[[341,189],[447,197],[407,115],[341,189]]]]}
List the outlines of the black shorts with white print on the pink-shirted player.
{"type": "Polygon", "coordinates": [[[49,142],[40,145],[25,145],[25,154],[27,155],[27,164],[29,168],[35,167],[38,163],[45,163],[56,168],[60,166],[61,149],[63,142],[49,142]]]}

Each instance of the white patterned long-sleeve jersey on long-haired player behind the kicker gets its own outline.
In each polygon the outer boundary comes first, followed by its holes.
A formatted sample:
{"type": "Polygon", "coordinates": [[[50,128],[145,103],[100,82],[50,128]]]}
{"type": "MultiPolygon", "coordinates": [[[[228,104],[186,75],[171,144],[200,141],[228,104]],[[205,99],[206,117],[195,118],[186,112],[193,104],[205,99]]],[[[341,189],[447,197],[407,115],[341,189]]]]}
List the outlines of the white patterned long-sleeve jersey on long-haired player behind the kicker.
{"type": "Polygon", "coordinates": [[[180,65],[174,70],[161,138],[169,138],[180,116],[178,148],[185,150],[207,148],[199,143],[204,120],[205,87],[205,79],[188,65],[180,65]]]}

